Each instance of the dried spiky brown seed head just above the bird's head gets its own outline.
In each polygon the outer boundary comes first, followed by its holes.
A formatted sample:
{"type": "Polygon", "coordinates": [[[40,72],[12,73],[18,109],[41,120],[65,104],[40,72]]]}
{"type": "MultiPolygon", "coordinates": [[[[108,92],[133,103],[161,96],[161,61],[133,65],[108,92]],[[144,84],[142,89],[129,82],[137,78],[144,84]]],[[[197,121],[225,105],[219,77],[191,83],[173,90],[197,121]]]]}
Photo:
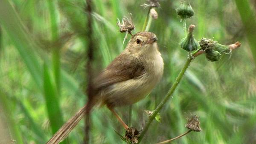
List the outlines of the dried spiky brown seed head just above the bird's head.
{"type": "Polygon", "coordinates": [[[123,17],[122,23],[117,19],[116,25],[120,28],[120,32],[128,32],[131,34],[131,31],[135,29],[132,18],[123,17]]]}

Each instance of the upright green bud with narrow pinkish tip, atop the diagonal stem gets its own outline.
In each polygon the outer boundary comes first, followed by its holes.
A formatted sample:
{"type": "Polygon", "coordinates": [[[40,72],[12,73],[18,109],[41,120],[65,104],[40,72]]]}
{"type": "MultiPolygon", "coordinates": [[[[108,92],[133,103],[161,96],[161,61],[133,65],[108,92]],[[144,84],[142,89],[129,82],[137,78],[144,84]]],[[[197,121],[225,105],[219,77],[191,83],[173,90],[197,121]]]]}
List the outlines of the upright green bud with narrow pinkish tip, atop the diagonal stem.
{"type": "Polygon", "coordinates": [[[180,42],[180,47],[182,49],[185,49],[188,52],[192,52],[198,49],[198,42],[195,40],[193,36],[194,28],[195,28],[195,25],[190,25],[189,34],[187,35],[187,37],[183,38],[180,42]]]}

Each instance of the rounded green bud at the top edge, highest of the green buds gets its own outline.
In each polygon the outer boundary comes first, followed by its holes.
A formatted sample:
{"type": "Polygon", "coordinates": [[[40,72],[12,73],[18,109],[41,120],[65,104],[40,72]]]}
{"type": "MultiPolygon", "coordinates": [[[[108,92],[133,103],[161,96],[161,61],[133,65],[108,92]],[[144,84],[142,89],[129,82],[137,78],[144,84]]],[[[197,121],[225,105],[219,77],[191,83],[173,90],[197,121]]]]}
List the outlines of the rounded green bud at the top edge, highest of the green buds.
{"type": "Polygon", "coordinates": [[[194,15],[194,10],[188,2],[181,3],[181,5],[176,9],[176,12],[183,19],[190,18],[194,15]]]}

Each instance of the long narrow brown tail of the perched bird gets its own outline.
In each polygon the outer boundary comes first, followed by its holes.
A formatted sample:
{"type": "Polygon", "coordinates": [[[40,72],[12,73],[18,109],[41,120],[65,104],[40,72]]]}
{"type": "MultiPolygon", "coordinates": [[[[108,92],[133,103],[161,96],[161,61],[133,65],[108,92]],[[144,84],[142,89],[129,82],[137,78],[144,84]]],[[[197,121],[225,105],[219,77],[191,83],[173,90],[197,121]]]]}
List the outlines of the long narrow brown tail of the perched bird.
{"type": "Polygon", "coordinates": [[[81,119],[86,115],[87,110],[89,111],[92,107],[89,109],[88,104],[82,107],[78,112],[76,112],[76,115],[74,115],[72,118],[70,118],[53,136],[52,138],[46,143],[46,144],[58,144],[60,143],[64,138],[67,137],[67,135],[73,130],[74,127],[81,121],[81,119]]]}

